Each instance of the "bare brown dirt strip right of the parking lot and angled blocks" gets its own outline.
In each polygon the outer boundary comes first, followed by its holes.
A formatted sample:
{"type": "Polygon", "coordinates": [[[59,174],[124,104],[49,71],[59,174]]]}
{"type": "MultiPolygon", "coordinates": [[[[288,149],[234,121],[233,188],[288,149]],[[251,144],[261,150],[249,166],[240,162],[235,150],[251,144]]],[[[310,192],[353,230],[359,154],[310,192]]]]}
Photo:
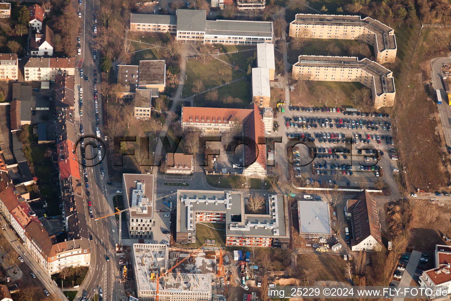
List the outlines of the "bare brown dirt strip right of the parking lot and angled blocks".
{"type": "MultiPolygon", "coordinates": [[[[430,60],[445,54],[443,49],[430,49],[429,38],[434,30],[423,31],[413,56],[409,72],[398,75],[396,82],[396,102],[393,107],[395,122],[393,134],[400,150],[400,164],[407,171],[409,190],[437,190],[446,187],[449,179],[449,163],[445,154],[445,141],[437,106],[428,96],[430,80],[430,60]],[[429,188],[427,188],[429,186],[429,188]]],[[[410,39],[416,41],[418,35],[410,39]]],[[[396,71],[396,65],[389,66],[396,71]]]]}

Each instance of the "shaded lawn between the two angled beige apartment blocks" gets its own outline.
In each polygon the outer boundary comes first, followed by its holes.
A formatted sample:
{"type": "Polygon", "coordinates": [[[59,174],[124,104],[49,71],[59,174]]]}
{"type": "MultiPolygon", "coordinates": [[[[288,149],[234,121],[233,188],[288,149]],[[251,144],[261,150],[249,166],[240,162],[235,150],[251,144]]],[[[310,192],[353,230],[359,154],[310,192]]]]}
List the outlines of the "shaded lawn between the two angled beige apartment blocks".
{"type": "MultiPolygon", "coordinates": [[[[305,56],[328,56],[327,46],[334,44],[340,49],[336,56],[350,56],[346,47],[359,45],[358,40],[335,40],[335,39],[308,39],[305,46],[300,49],[293,49],[290,45],[287,49],[288,62],[294,64],[298,61],[298,57],[302,54],[305,56]]],[[[374,56],[374,48],[369,45],[371,55],[374,56]]]]}

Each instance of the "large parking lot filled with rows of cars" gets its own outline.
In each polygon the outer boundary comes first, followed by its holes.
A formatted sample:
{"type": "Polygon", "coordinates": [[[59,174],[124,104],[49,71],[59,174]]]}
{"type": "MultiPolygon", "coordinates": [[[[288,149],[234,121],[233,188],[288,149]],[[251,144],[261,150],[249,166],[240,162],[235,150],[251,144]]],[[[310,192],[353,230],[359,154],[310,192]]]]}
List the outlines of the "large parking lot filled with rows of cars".
{"type": "Polygon", "coordinates": [[[313,107],[280,114],[282,141],[299,141],[287,154],[297,177],[307,172],[310,183],[372,186],[378,177],[398,172],[388,114],[313,107]]]}

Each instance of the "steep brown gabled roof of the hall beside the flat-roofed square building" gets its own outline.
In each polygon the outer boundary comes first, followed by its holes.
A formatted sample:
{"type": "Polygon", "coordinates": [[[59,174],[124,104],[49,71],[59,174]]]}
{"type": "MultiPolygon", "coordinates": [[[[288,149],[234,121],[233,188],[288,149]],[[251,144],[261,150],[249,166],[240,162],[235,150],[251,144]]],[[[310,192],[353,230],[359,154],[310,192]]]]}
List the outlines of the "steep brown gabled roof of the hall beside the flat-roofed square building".
{"type": "Polygon", "coordinates": [[[348,199],[348,212],[352,215],[352,228],[354,239],[352,245],[358,245],[368,236],[382,245],[381,228],[376,201],[371,199],[367,190],[355,196],[355,199],[348,199]]]}

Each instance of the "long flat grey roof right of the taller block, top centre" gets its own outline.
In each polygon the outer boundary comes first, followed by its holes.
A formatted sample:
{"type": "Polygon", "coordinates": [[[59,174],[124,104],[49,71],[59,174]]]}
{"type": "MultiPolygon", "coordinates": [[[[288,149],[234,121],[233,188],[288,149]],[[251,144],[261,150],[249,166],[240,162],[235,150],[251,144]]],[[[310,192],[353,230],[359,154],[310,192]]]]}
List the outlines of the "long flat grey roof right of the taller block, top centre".
{"type": "Polygon", "coordinates": [[[207,21],[205,26],[206,34],[272,37],[272,22],[216,20],[207,21]]]}

